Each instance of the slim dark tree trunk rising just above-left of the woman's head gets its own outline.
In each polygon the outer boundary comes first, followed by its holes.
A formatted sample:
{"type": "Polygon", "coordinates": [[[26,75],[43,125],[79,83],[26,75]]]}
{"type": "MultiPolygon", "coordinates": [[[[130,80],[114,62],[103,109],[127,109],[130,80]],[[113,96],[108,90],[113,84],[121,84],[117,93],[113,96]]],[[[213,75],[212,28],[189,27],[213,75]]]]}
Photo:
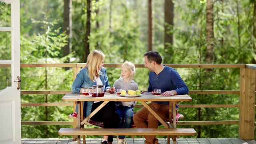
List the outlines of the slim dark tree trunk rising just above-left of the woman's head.
{"type": "Polygon", "coordinates": [[[90,43],[89,43],[89,37],[90,37],[90,31],[91,31],[91,0],[87,0],[87,19],[86,19],[86,34],[84,38],[84,62],[87,62],[87,57],[90,54],[90,43]]]}

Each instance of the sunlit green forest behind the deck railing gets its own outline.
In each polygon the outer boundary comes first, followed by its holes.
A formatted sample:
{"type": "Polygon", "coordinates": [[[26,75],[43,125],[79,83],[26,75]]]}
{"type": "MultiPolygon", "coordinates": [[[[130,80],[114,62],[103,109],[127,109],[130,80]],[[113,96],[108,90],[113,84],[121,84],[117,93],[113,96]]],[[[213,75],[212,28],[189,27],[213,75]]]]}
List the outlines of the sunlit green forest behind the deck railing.
{"type": "MultiPolygon", "coordinates": [[[[165,64],[256,64],[256,0],[151,2],[153,19],[149,37],[148,0],[20,0],[20,63],[84,63],[89,52],[98,49],[106,55],[104,63],[114,64],[125,60],[143,64],[143,54],[148,50],[158,51],[165,64]],[[67,4],[72,5],[70,14],[65,13],[67,4]],[[173,11],[173,15],[169,16],[165,10],[173,11]],[[165,16],[172,17],[169,24],[165,16]]],[[[10,27],[8,4],[0,3],[0,26],[10,27]]],[[[10,44],[10,33],[1,32],[1,60],[10,60],[10,44]]],[[[10,79],[8,70],[0,69],[0,90],[10,79]]],[[[176,70],[190,90],[239,90],[239,69],[176,70]]],[[[107,71],[112,85],[120,76],[120,68],[107,71]]],[[[148,69],[136,68],[136,72],[134,80],[139,89],[147,90],[148,69]]],[[[21,68],[21,78],[21,90],[70,90],[73,80],[68,68],[21,68]]],[[[62,96],[22,95],[21,102],[61,102],[62,96]]],[[[190,96],[193,101],[189,104],[239,103],[239,95],[190,96]]],[[[186,121],[239,118],[238,108],[180,108],[179,111],[186,121]]],[[[72,107],[22,107],[21,118],[68,121],[70,113],[72,107]]],[[[22,125],[22,138],[71,138],[58,135],[63,127],[72,126],[22,125]]],[[[190,137],[238,137],[238,125],[179,127],[195,128],[197,135],[190,137]]]]}

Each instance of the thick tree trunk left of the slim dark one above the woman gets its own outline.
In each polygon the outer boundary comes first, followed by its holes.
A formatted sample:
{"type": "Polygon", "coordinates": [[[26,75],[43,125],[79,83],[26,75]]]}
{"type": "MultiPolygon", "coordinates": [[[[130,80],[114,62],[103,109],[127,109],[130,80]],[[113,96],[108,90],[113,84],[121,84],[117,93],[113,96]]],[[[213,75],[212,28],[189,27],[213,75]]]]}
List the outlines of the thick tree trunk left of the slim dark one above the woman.
{"type": "MultiPolygon", "coordinates": [[[[64,0],[64,22],[63,22],[63,30],[66,31],[66,35],[68,37],[68,44],[64,46],[63,55],[67,56],[71,52],[72,43],[72,0],[64,0]]],[[[68,58],[64,63],[70,63],[70,59],[68,58]]],[[[69,68],[65,68],[65,70],[69,70],[69,68]]]]}

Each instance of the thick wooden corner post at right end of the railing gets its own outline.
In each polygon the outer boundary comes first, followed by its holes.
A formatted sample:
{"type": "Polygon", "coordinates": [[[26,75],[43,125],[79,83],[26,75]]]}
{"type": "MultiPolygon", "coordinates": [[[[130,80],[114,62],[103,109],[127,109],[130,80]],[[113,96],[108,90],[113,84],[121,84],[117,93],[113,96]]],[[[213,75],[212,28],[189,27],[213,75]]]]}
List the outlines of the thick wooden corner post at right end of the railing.
{"type": "Polygon", "coordinates": [[[240,68],[239,138],[242,140],[254,140],[255,82],[256,70],[240,68]]]}

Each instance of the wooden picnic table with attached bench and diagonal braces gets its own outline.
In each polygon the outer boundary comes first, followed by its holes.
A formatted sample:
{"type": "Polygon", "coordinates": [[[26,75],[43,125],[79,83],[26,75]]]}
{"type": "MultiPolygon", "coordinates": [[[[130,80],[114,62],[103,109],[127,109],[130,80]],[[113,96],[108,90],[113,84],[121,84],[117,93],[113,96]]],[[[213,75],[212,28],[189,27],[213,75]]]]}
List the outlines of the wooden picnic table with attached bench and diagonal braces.
{"type": "MultiPolygon", "coordinates": [[[[176,128],[176,122],[173,123],[173,125],[171,126],[170,124],[164,122],[164,120],[162,120],[160,118],[160,116],[158,116],[158,114],[156,114],[149,106],[146,102],[148,101],[161,101],[161,102],[170,102],[169,104],[169,114],[172,113],[172,116],[169,115],[169,122],[171,122],[171,118],[175,118],[176,117],[176,102],[182,102],[182,101],[192,101],[192,98],[190,96],[188,96],[187,94],[185,95],[176,95],[176,96],[155,96],[152,94],[141,94],[140,96],[134,96],[134,97],[128,97],[128,96],[122,96],[122,95],[117,95],[117,94],[105,94],[103,97],[92,97],[91,95],[89,96],[83,96],[82,94],[79,93],[68,93],[65,96],[63,96],[62,101],[73,101],[76,104],[78,104],[78,124],[77,124],[77,128],[76,130],[71,130],[68,128],[61,128],[59,131],[60,135],[78,135],[78,144],[80,144],[80,135],[110,135],[110,134],[106,134],[106,133],[110,133],[111,131],[116,133],[115,135],[122,135],[122,130],[114,130],[114,129],[110,129],[108,131],[99,131],[96,133],[92,133],[92,132],[85,132],[88,130],[83,130],[80,131],[81,126],[84,125],[92,116],[94,116],[94,114],[96,114],[96,112],[98,112],[103,106],[105,106],[109,101],[138,101],[141,102],[143,104],[144,107],[146,107],[157,119],[159,122],[161,122],[161,124],[166,128],[171,128],[169,130],[166,129],[159,129],[159,130],[154,130],[154,134],[155,135],[163,135],[163,134],[167,134],[172,135],[172,140],[174,142],[174,144],[176,143],[176,136],[178,135],[196,135],[196,132],[194,129],[187,129],[187,131],[185,129],[177,129],[176,128]],[[89,116],[87,116],[84,120],[81,121],[81,103],[83,101],[104,101],[98,108],[96,108],[93,112],[91,112],[91,114],[89,116]],[[100,133],[101,132],[101,133],[100,133]],[[159,133],[158,133],[159,132],[159,133]]],[[[174,120],[175,121],[175,120],[174,120]]],[[[132,135],[144,135],[142,134],[141,130],[139,130],[140,128],[135,128],[134,130],[130,130],[130,134],[132,135]],[[136,133],[136,134],[134,134],[136,133]]],[[[148,129],[149,130],[149,129],[148,129]]],[[[90,130],[91,131],[91,130],[90,130]]],[[[146,131],[146,130],[145,130],[146,131]]],[[[153,130],[152,130],[153,131],[153,130]]],[[[127,131],[126,134],[123,135],[128,135],[127,131]]],[[[149,133],[147,135],[152,135],[152,133],[149,133]]],[[[168,140],[169,143],[169,140],[168,140]]]]}

